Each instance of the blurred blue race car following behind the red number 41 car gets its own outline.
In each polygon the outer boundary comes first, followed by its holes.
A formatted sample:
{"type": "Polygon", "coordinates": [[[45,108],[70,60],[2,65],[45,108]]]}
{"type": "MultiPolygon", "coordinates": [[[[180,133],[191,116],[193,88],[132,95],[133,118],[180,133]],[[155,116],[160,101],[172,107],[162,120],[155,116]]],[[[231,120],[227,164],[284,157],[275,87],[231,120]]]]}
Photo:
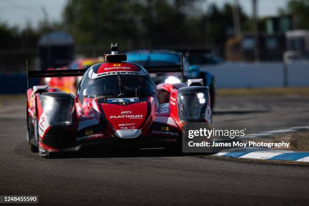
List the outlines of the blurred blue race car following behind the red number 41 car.
{"type": "MultiPolygon", "coordinates": [[[[153,49],[153,50],[132,50],[127,52],[127,61],[140,64],[141,66],[172,66],[179,65],[180,53],[174,50],[153,49]]],[[[190,65],[189,55],[183,55],[184,80],[203,79],[203,85],[210,88],[211,107],[215,104],[215,78],[207,71],[200,71],[199,66],[190,65]]],[[[181,74],[164,73],[151,74],[152,80],[156,85],[160,83],[180,83],[181,74]]]]}

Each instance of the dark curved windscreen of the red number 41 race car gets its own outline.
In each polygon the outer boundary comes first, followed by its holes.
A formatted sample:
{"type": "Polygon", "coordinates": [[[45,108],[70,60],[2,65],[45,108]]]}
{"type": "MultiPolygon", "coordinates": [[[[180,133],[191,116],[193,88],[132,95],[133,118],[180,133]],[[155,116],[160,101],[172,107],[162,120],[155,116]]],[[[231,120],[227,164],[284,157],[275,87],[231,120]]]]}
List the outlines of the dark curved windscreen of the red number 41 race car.
{"type": "Polygon", "coordinates": [[[112,75],[101,77],[90,83],[83,92],[84,96],[94,97],[135,97],[148,96],[156,92],[155,85],[147,77],[135,75],[112,75]]]}

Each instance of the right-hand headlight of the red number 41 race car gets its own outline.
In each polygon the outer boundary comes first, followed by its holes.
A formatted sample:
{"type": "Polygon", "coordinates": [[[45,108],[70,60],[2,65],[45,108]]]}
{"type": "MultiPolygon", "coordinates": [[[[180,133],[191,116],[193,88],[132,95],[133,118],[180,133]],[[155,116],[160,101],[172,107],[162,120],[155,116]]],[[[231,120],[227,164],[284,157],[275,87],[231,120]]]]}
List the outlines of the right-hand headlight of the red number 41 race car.
{"type": "Polygon", "coordinates": [[[182,122],[201,121],[207,108],[207,97],[206,87],[192,86],[179,89],[177,95],[179,120],[182,122]]]}

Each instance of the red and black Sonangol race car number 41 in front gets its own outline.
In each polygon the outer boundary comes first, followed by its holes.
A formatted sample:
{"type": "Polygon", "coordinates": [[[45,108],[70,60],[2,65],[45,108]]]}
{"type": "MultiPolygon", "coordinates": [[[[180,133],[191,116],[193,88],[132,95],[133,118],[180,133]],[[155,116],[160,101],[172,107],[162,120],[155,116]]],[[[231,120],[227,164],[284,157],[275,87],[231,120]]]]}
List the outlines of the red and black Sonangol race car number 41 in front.
{"type": "Polygon", "coordinates": [[[48,157],[93,144],[166,147],[181,143],[187,122],[212,124],[209,88],[201,79],[156,87],[149,76],[183,72],[181,62],[143,68],[113,45],[105,59],[87,70],[28,71],[28,78],[82,76],[75,96],[48,86],[27,90],[31,151],[48,157]]]}

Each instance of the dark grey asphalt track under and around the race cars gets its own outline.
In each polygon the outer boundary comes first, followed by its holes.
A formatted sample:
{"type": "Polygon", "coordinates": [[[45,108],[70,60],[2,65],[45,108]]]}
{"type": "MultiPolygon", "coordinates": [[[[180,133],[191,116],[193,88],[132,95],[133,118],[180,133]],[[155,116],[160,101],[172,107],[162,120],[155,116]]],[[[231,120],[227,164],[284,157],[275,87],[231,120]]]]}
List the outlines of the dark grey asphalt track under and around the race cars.
{"type": "MultiPolygon", "coordinates": [[[[245,121],[264,131],[303,126],[308,102],[219,97],[214,123],[245,121]]],[[[203,159],[165,149],[44,159],[28,149],[23,101],[4,102],[0,123],[0,195],[35,194],[46,205],[309,205],[308,166],[203,159]]]]}

